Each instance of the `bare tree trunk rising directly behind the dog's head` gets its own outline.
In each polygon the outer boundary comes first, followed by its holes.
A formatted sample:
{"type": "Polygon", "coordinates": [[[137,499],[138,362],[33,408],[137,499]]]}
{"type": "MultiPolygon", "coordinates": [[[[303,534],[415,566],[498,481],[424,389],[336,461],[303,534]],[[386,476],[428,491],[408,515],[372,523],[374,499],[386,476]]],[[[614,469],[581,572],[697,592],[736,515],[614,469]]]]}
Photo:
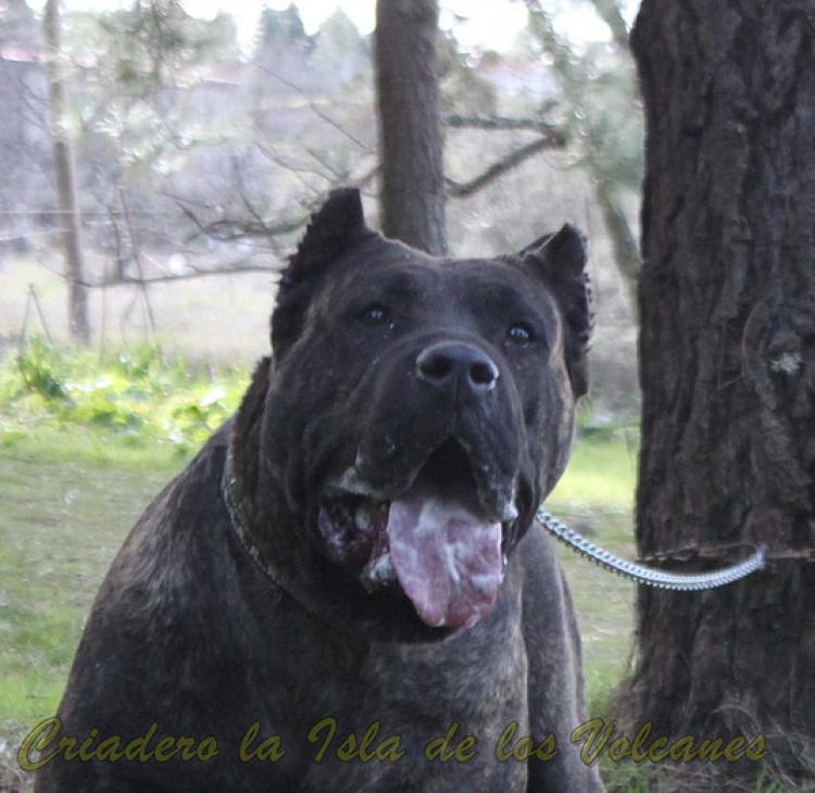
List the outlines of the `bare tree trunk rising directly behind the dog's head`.
{"type": "Polygon", "coordinates": [[[381,228],[437,255],[447,250],[438,15],[436,0],[376,4],[381,228]]]}

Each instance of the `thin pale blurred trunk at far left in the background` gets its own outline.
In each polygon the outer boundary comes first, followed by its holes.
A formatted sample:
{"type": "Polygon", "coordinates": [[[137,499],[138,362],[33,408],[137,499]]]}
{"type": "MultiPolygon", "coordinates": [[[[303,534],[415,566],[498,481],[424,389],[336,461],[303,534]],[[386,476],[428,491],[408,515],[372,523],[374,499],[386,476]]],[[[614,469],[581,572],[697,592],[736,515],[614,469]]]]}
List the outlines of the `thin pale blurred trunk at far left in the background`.
{"type": "Polygon", "coordinates": [[[57,199],[63,224],[65,278],[68,285],[68,326],[71,336],[75,341],[88,344],[90,342],[88,290],[83,286],[85,263],[82,246],[82,219],[76,197],[71,139],[66,129],[65,83],[61,65],[58,0],[48,0],[46,3],[42,25],[48,51],[46,66],[50,100],[51,139],[57,172],[57,199]]]}

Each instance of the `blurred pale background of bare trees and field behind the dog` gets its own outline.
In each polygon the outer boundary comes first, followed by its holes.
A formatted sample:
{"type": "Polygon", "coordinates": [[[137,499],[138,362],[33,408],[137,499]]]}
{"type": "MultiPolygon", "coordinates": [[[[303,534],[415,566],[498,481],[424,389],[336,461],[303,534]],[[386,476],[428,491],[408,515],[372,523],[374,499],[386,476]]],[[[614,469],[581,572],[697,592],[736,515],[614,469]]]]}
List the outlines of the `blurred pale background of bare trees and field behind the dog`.
{"type": "MultiPolygon", "coordinates": [[[[198,18],[192,3],[110,8],[66,3],[59,56],[91,345],[159,344],[189,361],[248,365],[267,349],[275,273],[326,192],[359,185],[376,225],[372,35],[339,5],[309,29],[294,3],[261,8],[251,42],[228,14],[198,18]]],[[[595,299],[593,404],[634,415],[642,176],[625,38],[634,8],[507,8],[527,24],[501,50],[462,43],[469,20],[451,13],[439,33],[450,249],[490,255],[564,222],[580,226],[595,299]],[[591,36],[576,11],[593,14],[591,36]]],[[[33,329],[68,338],[39,12],[0,2],[0,355],[33,329]]]]}

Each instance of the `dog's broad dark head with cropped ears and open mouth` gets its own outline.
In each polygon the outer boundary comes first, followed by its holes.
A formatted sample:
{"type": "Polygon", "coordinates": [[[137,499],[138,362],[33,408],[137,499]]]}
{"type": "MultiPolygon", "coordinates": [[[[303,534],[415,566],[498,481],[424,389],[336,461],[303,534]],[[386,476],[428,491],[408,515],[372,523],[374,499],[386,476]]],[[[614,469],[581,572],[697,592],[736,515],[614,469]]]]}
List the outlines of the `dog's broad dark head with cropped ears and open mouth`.
{"type": "Polygon", "coordinates": [[[258,425],[252,530],[285,581],[418,630],[492,607],[566,464],[585,264],[569,226],[513,255],[436,259],[369,230],[356,190],[329,198],[283,274],[272,363],[238,417],[258,425]]]}

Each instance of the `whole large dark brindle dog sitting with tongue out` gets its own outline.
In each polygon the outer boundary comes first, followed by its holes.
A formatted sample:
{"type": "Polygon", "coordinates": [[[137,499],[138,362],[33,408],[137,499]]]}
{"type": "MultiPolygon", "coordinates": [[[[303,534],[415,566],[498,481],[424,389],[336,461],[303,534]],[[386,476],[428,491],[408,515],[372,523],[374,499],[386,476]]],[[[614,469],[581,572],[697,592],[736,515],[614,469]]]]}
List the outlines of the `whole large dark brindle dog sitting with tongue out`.
{"type": "Polygon", "coordinates": [[[430,257],[334,193],[237,415],[102,584],[37,791],[601,790],[534,524],[586,389],[585,263],[568,226],[430,257]]]}

